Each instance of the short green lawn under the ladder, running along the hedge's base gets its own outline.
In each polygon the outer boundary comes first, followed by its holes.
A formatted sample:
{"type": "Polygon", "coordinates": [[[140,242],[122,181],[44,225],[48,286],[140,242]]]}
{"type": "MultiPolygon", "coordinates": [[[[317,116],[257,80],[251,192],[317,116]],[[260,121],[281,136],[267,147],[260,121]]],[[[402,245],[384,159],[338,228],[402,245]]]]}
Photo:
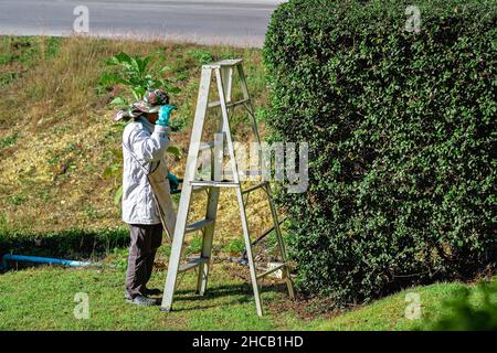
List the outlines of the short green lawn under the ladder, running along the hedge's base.
{"type": "MultiPolygon", "coordinates": [[[[124,268],[12,270],[0,275],[0,330],[413,330],[444,314],[443,301],[464,286],[415,287],[343,312],[318,313],[309,301],[288,300],[283,285],[269,284],[263,291],[266,313],[258,318],[251,287],[235,275],[244,268],[236,266],[215,264],[205,297],[193,293],[194,276],[187,274],[169,313],[126,303],[124,268]],[[87,320],[74,317],[77,292],[88,295],[87,320]],[[421,320],[404,315],[408,292],[420,295],[421,320]]],[[[165,276],[156,271],[151,287],[162,288],[165,276]]]]}

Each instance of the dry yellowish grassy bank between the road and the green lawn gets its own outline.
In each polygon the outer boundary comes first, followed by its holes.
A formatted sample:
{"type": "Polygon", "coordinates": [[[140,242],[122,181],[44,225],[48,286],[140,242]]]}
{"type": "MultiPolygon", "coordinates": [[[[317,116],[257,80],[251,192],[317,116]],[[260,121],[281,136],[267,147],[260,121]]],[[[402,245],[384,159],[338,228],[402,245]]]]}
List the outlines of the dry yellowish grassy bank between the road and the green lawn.
{"type": "MultiPolygon", "coordinates": [[[[113,127],[114,110],[108,103],[123,92],[98,86],[105,61],[119,52],[166,56],[167,72],[182,92],[172,99],[186,119],[183,131],[175,133],[175,145],[187,153],[193,118],[200,67],[211,57],[243,57],[255,106],[266,105],[261,53],[253,49],[201,46],[165,42],[113,41],[84,38],[3,38],[6,56],[0,73],[19,74],[1,88],[0,100],[0,213],[2,232],[42,234],[67,228],[99,229],[121,224],[113,196],[120,178],[105,178],[109,151],[120,149],[120,130],[113,127]],[[22,42],[22,45],[19,45],[22,42]],[[22,57],[20,60],[19,57],[22,57]],[[27,58],[28,57],[28,58],[27,58]]],[[[233,126],[236,139],[251,139],[246,117],[233,126]]],[[[182,175],[186,160],[171,160],[171,169],[182,175]]],[[[221,238],[240,236],[234,195],[223,192],[219,208],[221,238]]],[[[191,217],[200,217],[202,203],[195,202],[191,217]]],[[[254,232],[267,226],[269,212],[263,196],[252,196],[255,206],[250,222],[254,232]],[[265,205],[265,203],[264,203],[265,205]]]]}

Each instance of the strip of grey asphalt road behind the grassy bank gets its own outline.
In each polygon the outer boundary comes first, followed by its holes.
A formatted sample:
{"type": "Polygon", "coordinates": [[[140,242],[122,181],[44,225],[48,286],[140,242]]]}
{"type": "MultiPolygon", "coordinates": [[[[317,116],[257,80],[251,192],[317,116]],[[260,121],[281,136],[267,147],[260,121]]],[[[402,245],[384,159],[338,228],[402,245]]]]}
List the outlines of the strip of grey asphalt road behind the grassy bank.
{"type": "Polygon", "coordinates": [[[278,0],[0,0],[0,34],[84,35],[179,40],[261,46],[278,0]]]}

